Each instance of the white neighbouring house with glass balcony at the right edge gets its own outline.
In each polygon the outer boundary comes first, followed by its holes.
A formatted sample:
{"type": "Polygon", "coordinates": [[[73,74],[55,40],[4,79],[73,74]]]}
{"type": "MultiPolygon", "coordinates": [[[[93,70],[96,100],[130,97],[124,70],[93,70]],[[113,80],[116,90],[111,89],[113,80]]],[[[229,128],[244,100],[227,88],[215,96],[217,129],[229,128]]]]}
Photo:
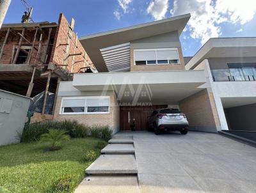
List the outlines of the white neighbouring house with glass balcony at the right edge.
{"type": "Polygon", "coordinates": [[[211,38],[187,63],[205,70],[222,130],[256,130],[256,38],[211,38]]]}

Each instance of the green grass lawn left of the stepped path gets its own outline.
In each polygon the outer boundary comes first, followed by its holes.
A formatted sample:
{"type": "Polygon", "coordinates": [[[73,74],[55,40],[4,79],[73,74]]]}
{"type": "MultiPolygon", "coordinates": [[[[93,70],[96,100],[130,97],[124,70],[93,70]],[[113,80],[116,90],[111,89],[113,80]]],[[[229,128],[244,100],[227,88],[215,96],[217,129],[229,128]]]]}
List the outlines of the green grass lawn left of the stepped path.
{"type": "MultiPolygon", "coordinates": [[[[0,192],[54,192],[54,184],[61,178],[69,179],[67,192],[72,192],[91,164],[84,160],[84,152],[95,150],[99,141],[91,137],[71,139],[58,151],[47,151],[42,143],[0,147],[0,192]]],[[[99,155],[100,150],[95,151],[99,155]]]]}

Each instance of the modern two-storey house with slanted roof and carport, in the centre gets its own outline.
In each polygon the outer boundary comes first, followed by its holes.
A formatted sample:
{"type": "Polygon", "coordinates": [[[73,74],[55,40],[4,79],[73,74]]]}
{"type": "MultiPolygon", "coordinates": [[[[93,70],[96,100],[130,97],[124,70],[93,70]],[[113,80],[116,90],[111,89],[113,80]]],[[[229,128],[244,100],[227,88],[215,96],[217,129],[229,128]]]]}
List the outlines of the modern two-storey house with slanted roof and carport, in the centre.
{"type": "Polygon", "coordinates": [[[147,129],[153,109],[179,108],[190,128],[217,132],[214,96],[204,69],[186,70],[179,36],[190,15],[84,36],[80,42],[99,73],[60,82],[55,120],[109,125],[113,132],[147,129]]]}

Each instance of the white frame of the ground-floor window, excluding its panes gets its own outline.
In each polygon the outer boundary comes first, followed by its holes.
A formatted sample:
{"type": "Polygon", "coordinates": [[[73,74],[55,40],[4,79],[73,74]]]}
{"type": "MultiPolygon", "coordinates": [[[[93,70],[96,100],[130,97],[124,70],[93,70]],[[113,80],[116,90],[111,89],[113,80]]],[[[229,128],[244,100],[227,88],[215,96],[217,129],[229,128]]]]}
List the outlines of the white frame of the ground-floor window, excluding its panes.
{"type": "Polygon", "coordinates": [[[110,107],[110,96],[63,96],[61,98],[61,105],[60,105],[60,114],[109,114],[109,107],[110,107]],[[108,98],[109,105],[108,105],[108,112],[87,112],[86,107],[86,99],[88,98],[108,98]],[[84,112],[63,112],[63,100],[65,99],[84,99],[84,112]]]}

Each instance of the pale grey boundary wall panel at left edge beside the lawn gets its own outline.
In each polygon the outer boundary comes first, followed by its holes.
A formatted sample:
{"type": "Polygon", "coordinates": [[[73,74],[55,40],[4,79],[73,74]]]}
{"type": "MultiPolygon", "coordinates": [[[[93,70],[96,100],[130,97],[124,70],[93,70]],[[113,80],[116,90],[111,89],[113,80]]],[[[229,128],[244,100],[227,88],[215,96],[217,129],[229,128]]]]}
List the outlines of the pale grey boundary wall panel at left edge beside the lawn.
{"type": "Polygon", "coordinates": [[[20,142],[30,100],[0,89],[0,146],[20,142]]]}

